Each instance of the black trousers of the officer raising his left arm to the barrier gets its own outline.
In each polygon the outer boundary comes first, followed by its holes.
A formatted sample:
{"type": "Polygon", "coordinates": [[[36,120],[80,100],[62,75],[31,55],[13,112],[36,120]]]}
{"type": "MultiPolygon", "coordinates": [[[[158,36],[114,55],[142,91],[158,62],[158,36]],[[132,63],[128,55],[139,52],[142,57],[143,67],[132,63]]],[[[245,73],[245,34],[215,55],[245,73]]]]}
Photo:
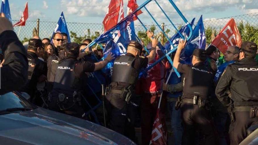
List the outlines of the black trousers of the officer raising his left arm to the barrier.
{"type": "Polygon", "coordinates": [[[215,127],[211,119],[209,111],[199,108],[198,105],[191,103],[181,104],[181,114],[184,127],[184,135],[182,145],[195,144],[198,137],[196,131],[199,131],[200,140],[198,144],[215,145],[218,144],[218,139],[215,133],[215,127]]]}

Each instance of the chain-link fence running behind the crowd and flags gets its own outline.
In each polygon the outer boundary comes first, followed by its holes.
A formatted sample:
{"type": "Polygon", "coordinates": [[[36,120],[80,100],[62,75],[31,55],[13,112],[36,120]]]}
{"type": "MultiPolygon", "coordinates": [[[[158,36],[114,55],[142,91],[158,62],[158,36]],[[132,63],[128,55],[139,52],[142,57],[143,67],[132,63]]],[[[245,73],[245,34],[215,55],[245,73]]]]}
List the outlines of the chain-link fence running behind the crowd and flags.
{"type": "MultiPolygon", "coordinates": [[[[220,29],[222,29],[225,24],[230,20],[230,18],[234,18],[237,25],[243,24],[253,26],[254,28],[258,28],[258,13],[251,13],[246,15],[240,15],[240,16],[233,16],[233,17],[227,17],[227,18],[220,18],[220,19],[213,19],[213,20],[206,20],[203,21],[204,27],[206,28],[207,33],[210,33],[208,31],[211,31],[211,33],[214,34],[206,34],[208,42],[210,41],[209,37],[212,37],[212,35],[216,35],[220,29]]],[[[189,20],[191,21],[191,20],[189,20]]],[[[198,18],[196,18],[197,23],[198,18]]],[[[13,21],[13,24],[17,21],[13,21]]],[[[49,21],[40,21],[39,23],[39,36],[41,38],[50,38],[53,30],[56,27],[57,22],[49,22],[49,21]]],[[[176,27],[180,27],[182,24],[175,24],[176,27]]],[[[90,37],[91,34],[95,32],[103,32],[103,25],[102,24],[94,24],[94,23],[70,23],[67,22],[67,27],[69,29],[69,32],[72,31],[77,34],[77,36],[87,36],[90,37]]],[[[155,31],[159,31],[156,25],[146,25],[147,28],[155,27],[155,31]]],[[[20,27],[15,27],[14,30],[18,34],[20,27]]],[[[37,28],[37,21],[26,21],[26,26],[22,26],[20,33],[19,33],[19,39],[24,40],[24,38],[31,38],[33,36],[33,29],[37,28]]],[[[174,35],[175,30],[171,24],[165,24],[164,30],[167,31],[167,35],[171,37],[174,35]]],[[[135,31],[138,33],[139,31],[145,31],[142,25],[135,25],[135,31]]],[[[241,33],[241,32],[240,32],[241,33]]],[[[242,35],[242,34],[241,34],[242,35]]],[[[258,41],[258,39],[257,39],[258,41]]]]}

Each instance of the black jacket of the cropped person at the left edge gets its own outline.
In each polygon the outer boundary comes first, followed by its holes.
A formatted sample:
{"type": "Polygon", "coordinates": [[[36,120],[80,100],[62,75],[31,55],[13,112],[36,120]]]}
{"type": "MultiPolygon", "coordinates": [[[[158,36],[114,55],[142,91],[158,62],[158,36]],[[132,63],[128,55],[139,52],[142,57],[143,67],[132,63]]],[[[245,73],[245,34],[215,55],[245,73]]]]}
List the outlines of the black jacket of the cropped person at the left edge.
{"type": "Polygon", "coordinates": [[[1,33],[0,48],[4,55],[4,64],[1,67],[0,95],[2,95],[18,90],[26,84],[28,59],[27,52],[14,31],[7,30],[1,33]]]}

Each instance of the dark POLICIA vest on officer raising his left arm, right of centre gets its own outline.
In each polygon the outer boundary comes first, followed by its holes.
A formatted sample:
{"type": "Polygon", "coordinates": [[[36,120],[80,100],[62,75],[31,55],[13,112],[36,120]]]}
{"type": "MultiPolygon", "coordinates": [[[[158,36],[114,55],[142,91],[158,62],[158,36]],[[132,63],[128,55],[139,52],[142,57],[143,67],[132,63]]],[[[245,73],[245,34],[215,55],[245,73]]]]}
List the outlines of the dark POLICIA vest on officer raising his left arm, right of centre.
{"type": "MultiPolygon", "coordinates": [[[[185,76],[183,93],[208,97],[211,93],[213,74],[204,63],[191,66],[188,76],[185,76]]],[[[193,97],[192,96],[192,97],[193,97]]]]}

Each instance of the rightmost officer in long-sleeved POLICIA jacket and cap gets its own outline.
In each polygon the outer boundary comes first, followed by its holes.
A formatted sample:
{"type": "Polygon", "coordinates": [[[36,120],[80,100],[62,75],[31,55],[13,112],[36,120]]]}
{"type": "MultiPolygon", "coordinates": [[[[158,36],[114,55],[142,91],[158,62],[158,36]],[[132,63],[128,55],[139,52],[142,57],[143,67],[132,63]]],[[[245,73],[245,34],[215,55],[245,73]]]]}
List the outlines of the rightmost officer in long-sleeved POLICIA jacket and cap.
{"type": "MultiPolygon", "coordinates": [[[[230,97],[230,144],[237,145],[247,137],[247,128],[258,124],[258,65],[254,60],[257,44],[243,42],[239,62],[228,65],[216,87],[215,93],[223,104],[230,97]],[[231,106],[231,105],[230,105],[231,106]]],[[[229,99],[229,100],[230,100],[229,99]]]]}

